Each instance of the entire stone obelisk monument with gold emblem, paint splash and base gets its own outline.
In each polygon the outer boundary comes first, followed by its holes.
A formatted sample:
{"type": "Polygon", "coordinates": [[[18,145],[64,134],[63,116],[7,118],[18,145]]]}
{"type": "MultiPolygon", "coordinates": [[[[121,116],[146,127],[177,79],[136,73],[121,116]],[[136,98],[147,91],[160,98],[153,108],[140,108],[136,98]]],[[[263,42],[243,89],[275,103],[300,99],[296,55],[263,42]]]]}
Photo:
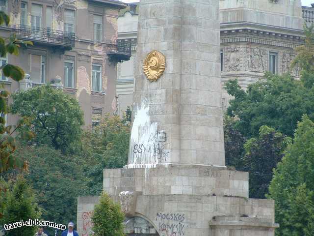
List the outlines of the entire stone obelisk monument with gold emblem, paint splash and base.
{"type": "Polygon", "coordinates": [[[128,165],[104,190],[145,236],[273,236],[274,202],[225,166],[218,0],[141,0],[128,165]]]}

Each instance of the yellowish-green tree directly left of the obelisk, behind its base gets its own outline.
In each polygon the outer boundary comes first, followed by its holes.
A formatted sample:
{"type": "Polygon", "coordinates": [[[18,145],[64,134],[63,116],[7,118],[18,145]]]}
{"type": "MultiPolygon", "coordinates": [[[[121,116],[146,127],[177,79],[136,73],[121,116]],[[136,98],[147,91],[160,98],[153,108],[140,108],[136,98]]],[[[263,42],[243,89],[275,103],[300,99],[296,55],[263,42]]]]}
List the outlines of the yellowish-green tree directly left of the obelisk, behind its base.
{"type": "Polygon", "coordinates": [[[100,125],[86,130],[82,137],[84,172],[88,177],[88,195],[103,189],[103,170],[122,168],[128,161],[130,121],[127,117],[107,115],[100,125]]]}

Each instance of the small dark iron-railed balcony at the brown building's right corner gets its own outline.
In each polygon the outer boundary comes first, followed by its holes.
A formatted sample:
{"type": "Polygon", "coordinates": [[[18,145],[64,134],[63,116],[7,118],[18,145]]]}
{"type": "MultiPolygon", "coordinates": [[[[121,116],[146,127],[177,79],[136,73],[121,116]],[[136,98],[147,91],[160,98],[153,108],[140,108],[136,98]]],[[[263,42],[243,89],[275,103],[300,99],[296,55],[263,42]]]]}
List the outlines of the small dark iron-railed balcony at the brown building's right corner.
{"type": "Polygon", "coordinates": [[[131,58],[131,43],[124,40],[110,40],[107,44],[110,61],[122,62],[131,58]]]}

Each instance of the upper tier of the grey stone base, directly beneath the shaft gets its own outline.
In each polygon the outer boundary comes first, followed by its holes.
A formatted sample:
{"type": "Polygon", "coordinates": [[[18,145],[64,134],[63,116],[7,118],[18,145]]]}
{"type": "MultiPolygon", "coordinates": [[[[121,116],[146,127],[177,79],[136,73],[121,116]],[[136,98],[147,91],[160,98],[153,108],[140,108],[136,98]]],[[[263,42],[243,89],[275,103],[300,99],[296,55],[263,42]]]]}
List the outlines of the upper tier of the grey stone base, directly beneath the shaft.
{"type": "Polygon", "coordinates": [[[248,185],[247,172],[196,165],[159,165],[147,169],[104,171],[104,190],[110,195],[129,191],[144,195],[192,194],[248,198],[248,185]]]}

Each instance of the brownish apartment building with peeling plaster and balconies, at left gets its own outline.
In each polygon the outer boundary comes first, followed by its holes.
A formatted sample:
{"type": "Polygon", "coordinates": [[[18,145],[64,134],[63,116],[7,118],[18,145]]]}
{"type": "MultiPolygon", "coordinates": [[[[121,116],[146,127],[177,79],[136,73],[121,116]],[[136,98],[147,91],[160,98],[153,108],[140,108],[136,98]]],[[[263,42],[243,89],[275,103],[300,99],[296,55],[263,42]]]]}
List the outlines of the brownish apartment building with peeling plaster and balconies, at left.
{"type": "MultiPolygon", "coordinates": [[[[25,79],[1,75],[0,82],[10,92],[48,83],[62,88],[78,99],[86,126],[114,112],[117,62],[130,57],[130,47],[117,41],[118,12],[125,7],[118,0],[0,0],[11,18],[0,35],[34,44],[0,59],[22,67],[25,79]]],[[[9,124],[15,120],[7,116],[9,124]]]]}

